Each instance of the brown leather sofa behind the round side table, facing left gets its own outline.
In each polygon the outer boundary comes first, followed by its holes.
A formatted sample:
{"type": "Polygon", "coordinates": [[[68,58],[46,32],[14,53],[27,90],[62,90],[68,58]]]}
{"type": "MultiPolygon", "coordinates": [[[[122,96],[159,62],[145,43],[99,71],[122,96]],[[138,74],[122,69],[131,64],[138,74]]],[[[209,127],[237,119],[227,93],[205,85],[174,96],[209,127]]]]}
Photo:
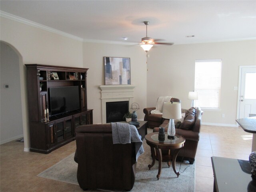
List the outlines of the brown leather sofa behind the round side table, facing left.
{"type": "MultiPolygon", "coordinates": [[[[200,138],[200,126],[201,126],[202,111],[198,108],[190,108],[186,111],[184,121],[180,124],[177,123],[175,127],[176,134],[184,136],[186,142],[184,147],[178,153],[177,159],[188,160],[190,164],[193,164],[196,157],[196,149],[200,138]]],[[[164,131],[167,132],[169,120],[164,120],[159,127],[164,127],[164,131]]],[[[159,127],[153,129],[153,132],[159,132],[159,127]]],[[[166,151],[162,151],[166,153],[166,151]]]]}

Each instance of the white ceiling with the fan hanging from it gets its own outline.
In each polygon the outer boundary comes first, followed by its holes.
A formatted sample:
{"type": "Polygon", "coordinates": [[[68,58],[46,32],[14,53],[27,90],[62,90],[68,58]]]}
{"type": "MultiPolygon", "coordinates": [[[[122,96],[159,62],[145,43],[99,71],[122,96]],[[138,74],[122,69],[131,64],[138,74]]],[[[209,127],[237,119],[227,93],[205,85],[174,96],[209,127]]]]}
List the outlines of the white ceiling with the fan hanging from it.
{"type": "Polygon", "coordinates": [[[138,43],[143,21],[174,44],[256,39],[255,0],[1,0],[0,10],[89,42],[138,43]]]}

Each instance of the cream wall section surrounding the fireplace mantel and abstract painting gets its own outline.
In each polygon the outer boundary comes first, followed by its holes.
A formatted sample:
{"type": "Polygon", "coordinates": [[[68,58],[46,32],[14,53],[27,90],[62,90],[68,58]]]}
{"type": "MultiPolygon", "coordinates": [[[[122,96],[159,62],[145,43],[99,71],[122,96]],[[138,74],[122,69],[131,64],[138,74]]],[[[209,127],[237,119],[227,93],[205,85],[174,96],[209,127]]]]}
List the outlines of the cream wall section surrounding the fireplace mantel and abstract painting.
{"type": "Polygon", "coordinates": [[[101,123],[100,85],[104,85],[103,57],[129,57],[131,68],[131,84],[134,88],[133,102],[139,104],[138,119],[144,119],[143,108],[146,108],[146,52],[140,46],[88,43],[83,44],[84,68],[87,74],[88,108],[93,109],[93,120],[101,123]]]}

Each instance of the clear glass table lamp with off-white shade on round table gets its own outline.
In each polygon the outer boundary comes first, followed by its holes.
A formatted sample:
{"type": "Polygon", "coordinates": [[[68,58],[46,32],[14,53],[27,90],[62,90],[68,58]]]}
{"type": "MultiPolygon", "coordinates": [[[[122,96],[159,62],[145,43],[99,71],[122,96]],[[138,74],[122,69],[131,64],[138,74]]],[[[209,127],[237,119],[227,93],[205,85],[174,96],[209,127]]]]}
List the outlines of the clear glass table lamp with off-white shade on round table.
{"type": "Polygon", "coordinates": [[[174,119],[181,118],[180,102],[164,102],[162,117],[165,119],[170,119],[167,134],[168,134],[168,139],[174,139],[175,133],[176,133],[175,126],[174,126],[174,119]]]}

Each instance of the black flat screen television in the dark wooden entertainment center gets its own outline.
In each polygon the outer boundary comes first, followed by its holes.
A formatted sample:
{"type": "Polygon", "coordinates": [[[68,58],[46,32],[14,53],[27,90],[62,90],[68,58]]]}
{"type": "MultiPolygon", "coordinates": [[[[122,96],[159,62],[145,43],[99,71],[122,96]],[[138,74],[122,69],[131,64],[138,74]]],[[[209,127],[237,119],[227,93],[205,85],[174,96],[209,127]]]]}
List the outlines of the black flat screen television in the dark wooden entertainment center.
{"type": "Polygon", "coordinates": [[[58,115],[80,109],[78,86],[51,87],[51,115],[58,115]]]}

